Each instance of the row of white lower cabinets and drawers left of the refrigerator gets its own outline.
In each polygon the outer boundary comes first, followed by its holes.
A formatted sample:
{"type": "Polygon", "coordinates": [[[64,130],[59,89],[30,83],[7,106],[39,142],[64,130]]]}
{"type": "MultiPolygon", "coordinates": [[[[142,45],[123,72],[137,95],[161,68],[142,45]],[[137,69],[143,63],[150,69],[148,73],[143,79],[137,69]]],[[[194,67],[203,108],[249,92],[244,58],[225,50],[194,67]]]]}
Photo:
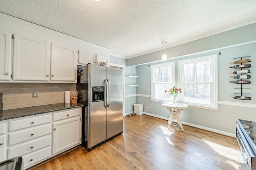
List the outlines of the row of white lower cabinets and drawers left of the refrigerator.
{"type": "Polygon", "coordinates": [[[22,156],[26,169],[78,146],[81,116],[79,107],[0,123],[0,162],[22,156]]]}

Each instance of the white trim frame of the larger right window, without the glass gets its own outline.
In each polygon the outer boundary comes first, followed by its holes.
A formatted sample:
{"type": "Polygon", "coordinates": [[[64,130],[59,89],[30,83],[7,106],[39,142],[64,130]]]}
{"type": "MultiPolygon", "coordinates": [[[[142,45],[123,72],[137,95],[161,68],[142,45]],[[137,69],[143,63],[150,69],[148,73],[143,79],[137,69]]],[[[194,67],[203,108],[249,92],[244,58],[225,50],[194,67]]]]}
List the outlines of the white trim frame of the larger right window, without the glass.
{"type": "Polygon", "coordinates": [[[200,61],[208,61],[208,60],[211,61],[210,62],[210,64],[211,64],[210,73],[212,75],[211,76],[212,80],[209,82],[211,84],[211,89],[210,89],[211,104],[206,105],[206,104],[196,104],[196,103],[184,102],[184,94],[183,93],[182,93],[182,95],[180,95],[179,99],[180,99],[180,102],[186,103],[186,104],[188,104],[188,106],[191,106],[191,107],[199,107],[199,108],[217,110],[218,109],[218,55],[217,54],[178,61],[178,84],[179,84],[179,87],[183,88],[183,84],[184,84],[183,64],[195,63],[195,62],[200,62],[200,61]]]}

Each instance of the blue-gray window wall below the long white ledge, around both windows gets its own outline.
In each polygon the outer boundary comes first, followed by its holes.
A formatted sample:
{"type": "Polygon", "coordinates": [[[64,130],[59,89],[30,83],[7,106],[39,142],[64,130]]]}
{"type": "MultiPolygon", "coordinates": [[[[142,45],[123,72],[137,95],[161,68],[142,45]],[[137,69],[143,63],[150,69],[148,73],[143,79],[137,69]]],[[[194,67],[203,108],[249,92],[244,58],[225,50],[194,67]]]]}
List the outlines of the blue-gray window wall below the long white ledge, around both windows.
{"type": "MultiPolygon", "coordinates": [[[[187,124],[194,124],[211,129],[216,129],[218,131],[224,131],[235,134],[236,119],[256,121],[256,88],[254,88],[256,84],[256,76],[254,76],[256,72],[256,43],[250,43],[246,45],[240,45],[237,47],[230,47],[222,50],[200,53],[188,57],[176,58],[170,61],[175,61],[175,77],[176,84],[178,84],[178,60],[188,59],[192,57],[202,57],[219,53],[221,53],[221,55],[218,55],[218,101],[220,103],[218,111],[196,107],[188,107],[188,109],[182,111],[180,120],[187,124]],[[239,89],[234,89],[239,88],[240,84],[234,84],[229,82],[234,80],[230,78],[230,76],[234,76],[234,74],[229,74],[230,71],[234,71],[234,69],[229,68],[229,66],[233,66],[234,64],[229,64],[229,62],[234,61],[234,57],[242,57],[248,55],[252,55],[252,57],[250,57],[252,60],[252,62],[250,62],[250,64],[252,64],[252,67],[249,68],[252,73],[248,74],[252,76],[252,78],[250,79],[252,84],[244,84],[243,87],[252,89],[243,90],[243,92],[251,93],[252,95],[248,96],[250,96],[252,100],[231,99],[230,96],[240,96],[239,94],[234,94],[235,92],[240,92],[239,89]],[[238,102],[235,103],[236,106],[232,106],[232,103],[234,102],[238,102]],[[252,106],[246,107],[243,106],[244,104],[250,104],[252,106]]],[[[153,65],[153,63],[151,63],[151,65],[153,65]]],[[[148,66],[148,64],[140,65],[137,66],[136,71],[139,76],[138,81],[140,82],[140,86],[137,88],[136,93],[150,94],[150,67],[148,66]]],[[[143,111],[146,113],[156,115],[156,117],[170,117],[168,110],[165,107],[162,107],[161,103],[150,102],[149,97],[137,96],[136,102],[144,104],[143,111]],[[148,105],[148,109],[146,108],[146,105],[148,105]]]]}

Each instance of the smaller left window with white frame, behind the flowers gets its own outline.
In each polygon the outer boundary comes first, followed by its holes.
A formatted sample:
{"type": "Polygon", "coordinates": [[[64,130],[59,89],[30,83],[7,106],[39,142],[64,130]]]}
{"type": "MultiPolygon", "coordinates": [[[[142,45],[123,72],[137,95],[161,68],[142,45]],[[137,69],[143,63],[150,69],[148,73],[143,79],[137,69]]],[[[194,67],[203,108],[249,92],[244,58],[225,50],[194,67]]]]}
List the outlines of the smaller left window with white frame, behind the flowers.
{"type": "Polygon", "coordinates": [[[174,86],[174,62],[156,64],[150,66],[151,71],[151,101],[169,101],[170,94],[166,94],[165,90],[174,86]]]}

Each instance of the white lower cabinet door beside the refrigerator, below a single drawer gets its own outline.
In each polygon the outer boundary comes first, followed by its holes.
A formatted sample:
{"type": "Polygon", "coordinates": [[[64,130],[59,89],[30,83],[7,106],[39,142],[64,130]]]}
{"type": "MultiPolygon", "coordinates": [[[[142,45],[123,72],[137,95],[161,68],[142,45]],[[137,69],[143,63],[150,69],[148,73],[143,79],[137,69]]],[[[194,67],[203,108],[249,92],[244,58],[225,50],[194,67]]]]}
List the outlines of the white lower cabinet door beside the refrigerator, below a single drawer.
{"type": "Polygon", "coordinates": [[[52,154],[80,143],[80,117],[52,123],[52,154]]]}

